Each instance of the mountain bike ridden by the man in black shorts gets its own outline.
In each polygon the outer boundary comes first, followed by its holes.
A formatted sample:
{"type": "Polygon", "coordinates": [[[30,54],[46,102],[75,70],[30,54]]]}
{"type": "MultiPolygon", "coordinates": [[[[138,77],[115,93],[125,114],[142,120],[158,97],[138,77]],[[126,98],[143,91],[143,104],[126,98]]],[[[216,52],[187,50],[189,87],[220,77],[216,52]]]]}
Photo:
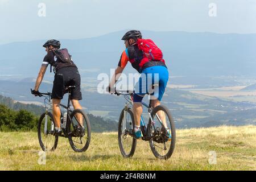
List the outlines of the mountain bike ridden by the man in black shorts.
{"type": "MultiPolygon", "coordinates": [[[[90,144],[90,121],[88,116],[81,109],[71,109],[71,92],[75,86],[68,86],[68,104],[67,106],[60,104],[65,109],[61,111],[61,129],[63,134],[56,135],[55,122],[51,113],[51,92],[39,93],[39,97],[44,97],[44,106],[46,112],[43,113],[38,122],[38,139],[43,151],[55,151],[59,137],[68,138],[69,144],[76,152],[84,152],[90,144]],[[84,128],[82,127],[84,126],[84,128]]],[[[32,90],[32,89],[31,89],[32,90]]]]}

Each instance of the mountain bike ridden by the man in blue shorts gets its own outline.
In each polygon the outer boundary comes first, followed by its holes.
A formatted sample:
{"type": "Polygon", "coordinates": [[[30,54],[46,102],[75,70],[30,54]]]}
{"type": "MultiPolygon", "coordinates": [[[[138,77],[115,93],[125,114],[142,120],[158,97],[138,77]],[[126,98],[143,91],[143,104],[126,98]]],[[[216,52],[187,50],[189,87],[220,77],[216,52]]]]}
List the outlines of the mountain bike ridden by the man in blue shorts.
{"type": "MultiPolygon", "coordinates": [[[[134,115],[133,109],[133,91],[130,90],[115,90],[114,94],[122,95],[127,101],[125,107],[121,111],[118,122],[118,143],[121,154],[125,158],[130,158],[134,155],[137,145],[137,139],[134,137],[134,115]]],[[[158,159],[169,159],[175,148],[175,125],[174,119],[170,110],[163,105],[152,108],[150,104],[142,102],[142,105],[148,109],[148,124],[144,123],[143,116],[141,117],[142,140],[149,141],[150,148],[154,156],[158,159]],[[162,118],[162,119],[160,119],[162,118]],[[168,137],[168,131],[171,138],[168,137]]]]}

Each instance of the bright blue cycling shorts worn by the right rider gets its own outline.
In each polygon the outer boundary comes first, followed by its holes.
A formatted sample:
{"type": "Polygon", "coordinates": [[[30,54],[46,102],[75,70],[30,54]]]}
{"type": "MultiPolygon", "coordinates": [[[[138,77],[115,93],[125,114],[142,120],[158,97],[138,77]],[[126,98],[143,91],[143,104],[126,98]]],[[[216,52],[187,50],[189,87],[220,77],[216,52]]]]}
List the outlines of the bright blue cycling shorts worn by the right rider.
{"type": "Polygon", "coordinates": [[[150,94],[150,99],[162,100],[166,89],[169,72],[166,67],[154,66],[143,69],[139,81],[134,88],[134,102],[141,102],[145,94],[150,94]],[[154,88],[152,88],[154,85],[154,88]]]}

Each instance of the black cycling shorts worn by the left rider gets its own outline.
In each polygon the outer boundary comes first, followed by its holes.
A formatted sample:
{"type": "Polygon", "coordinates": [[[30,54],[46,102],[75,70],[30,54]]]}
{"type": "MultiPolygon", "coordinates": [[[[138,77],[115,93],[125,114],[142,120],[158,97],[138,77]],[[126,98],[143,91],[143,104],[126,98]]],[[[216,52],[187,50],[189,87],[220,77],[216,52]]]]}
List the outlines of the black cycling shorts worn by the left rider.
{"type": "Polygon", "coordinates": [[[68,86],[76,86],[75,90],[71,92],[71,100],[82,100],[81,93],[81,77],[76,67],[64,67],[55,73],[52,98],[63,99],[67,93],[68,86]]]}

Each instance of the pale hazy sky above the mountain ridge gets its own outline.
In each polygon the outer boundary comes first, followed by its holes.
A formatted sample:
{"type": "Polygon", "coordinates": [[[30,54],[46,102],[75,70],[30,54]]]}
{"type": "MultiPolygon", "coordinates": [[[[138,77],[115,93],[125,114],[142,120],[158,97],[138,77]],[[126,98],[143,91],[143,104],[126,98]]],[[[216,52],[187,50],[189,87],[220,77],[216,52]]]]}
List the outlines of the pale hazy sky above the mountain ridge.
{"type": "Polygon", "coordinates": [[[0,26],[0,44],[131,28],[248,34],[256,33],[256,0],[0,0],[0,26]]]}

